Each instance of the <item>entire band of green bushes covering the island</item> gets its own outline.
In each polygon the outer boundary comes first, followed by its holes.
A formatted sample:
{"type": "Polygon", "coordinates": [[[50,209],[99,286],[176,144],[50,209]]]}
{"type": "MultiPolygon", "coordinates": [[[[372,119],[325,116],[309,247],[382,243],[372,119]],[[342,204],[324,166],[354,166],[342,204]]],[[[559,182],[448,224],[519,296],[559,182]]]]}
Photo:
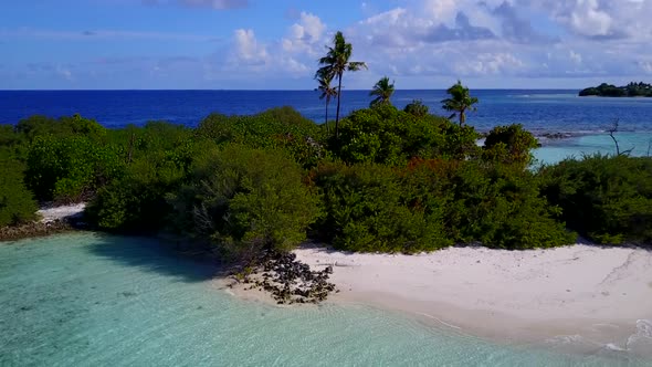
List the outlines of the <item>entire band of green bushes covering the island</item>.
{"type": "Polygon", "coordinates": [[[230,258],[311,237],[348,251],[499,249],[652,239],[650,158],[592,156],[532,169],[537,140],[473,127],[414,102],[356,111],[339,138],[290,107],[105,129],[78,115],[0,127],[0,226],[38,201],[88,200],[114,232],[173,231],[230,258]]]}

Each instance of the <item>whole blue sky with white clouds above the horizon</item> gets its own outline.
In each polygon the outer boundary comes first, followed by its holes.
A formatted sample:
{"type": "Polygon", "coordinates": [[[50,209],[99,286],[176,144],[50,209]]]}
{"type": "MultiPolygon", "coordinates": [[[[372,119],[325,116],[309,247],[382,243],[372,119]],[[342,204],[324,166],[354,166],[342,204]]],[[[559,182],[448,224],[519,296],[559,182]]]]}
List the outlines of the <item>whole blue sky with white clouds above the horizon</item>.
{"type": "Polygon", "coordinates": [[[2,0],[0,90],[312,90],[337,31],[349,90],[652,82],[652,0],[2,0]]]}

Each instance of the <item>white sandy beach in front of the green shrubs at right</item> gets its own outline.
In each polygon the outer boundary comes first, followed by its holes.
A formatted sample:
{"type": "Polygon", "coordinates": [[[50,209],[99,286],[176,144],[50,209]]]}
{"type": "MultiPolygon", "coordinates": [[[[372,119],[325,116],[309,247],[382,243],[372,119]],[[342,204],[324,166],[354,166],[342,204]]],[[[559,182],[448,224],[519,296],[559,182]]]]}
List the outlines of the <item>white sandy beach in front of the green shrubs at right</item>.
{"type": "Polygon", "coordinates": [[[652,354],[652,251],[644,249],[295,253],[315,269],[334,265],[340,293],[330,302],[407,312],[506,343],[571,340],[587,352],[608,346],[652,354]]]}

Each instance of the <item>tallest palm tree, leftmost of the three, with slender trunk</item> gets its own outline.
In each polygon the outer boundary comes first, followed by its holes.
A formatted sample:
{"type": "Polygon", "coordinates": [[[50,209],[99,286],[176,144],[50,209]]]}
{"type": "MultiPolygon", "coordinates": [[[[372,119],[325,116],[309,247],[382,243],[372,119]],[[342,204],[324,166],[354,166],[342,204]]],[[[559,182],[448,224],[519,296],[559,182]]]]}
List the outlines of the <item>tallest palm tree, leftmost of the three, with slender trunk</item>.
{"type": "Polygon", "coordinates": [[[315,73],[315,78],[323,75],[337,76],[337,113],[335,115],[335,138],[339,137],[339,102],[341,98],[341,76],[345,71],[356,72],[360,69],[367,69],[367,64],[361,61],[349,61],[354,48],[350,43],[346,43],[341,32],[335,33],[333,38],[333,46],[327,46],[328,52],[326,56],[319,59],[319,65],[323,65],[315,73]]]}

